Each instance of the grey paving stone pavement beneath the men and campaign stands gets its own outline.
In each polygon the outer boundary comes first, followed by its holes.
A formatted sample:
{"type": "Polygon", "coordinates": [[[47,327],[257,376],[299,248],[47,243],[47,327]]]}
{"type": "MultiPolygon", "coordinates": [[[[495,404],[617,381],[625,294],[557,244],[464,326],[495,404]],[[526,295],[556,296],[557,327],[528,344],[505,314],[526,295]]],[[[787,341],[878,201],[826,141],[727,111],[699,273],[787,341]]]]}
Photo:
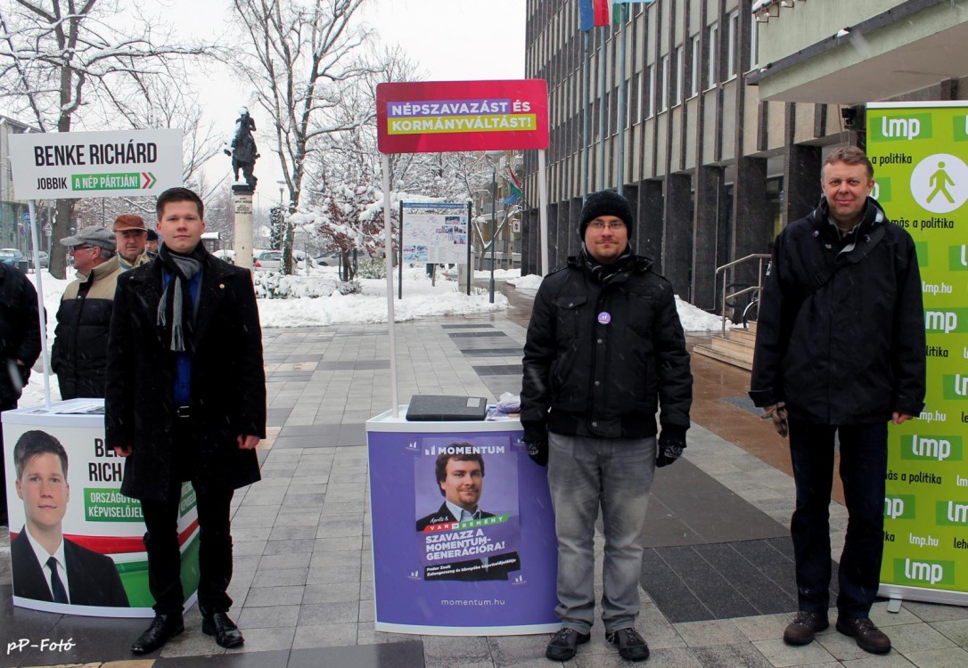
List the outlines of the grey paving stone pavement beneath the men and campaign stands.
{"type": "MultiPolygon", "coordinates": [[[[513,293],[513,288],[502,289],[513,293]]],[[[528,296],[516,295],[512,304],[516,308],[507,312],[399,323],[400,401],[406,403],[413,393],[495,398],[500,392],[518,392],[528,296]]],[[[263,479],[239,490],[233,500],[235,572],[229,594],[235,601],[231,614],[245,634],[244,648],[224,651],[202,635],[197,608],[186,614],[186,633],[160,655],[140,660],[131,660],[127,648],[143,620],[67,618],[14,608],[9,535],[3,529],[0,666],[549,665],[544,658],[548,635],[436,637],[374,630],[364,422],[391,404],[386,326],[266,330],[263,336],[270,427],[259,450],[263,479]],[[75,647],[58,653],[10,651],[8,643],[22,637],[70,637],[75,647]]],[[[697,375],[697,383],[706,378],[697,375]]],[[[743,412],[736,401],[720,403],[718,418],[690,429],[687,464],[665,470],[673,482],[664,488],[656,485],[650,526],[658,538],[648,547],[637,623],[650,644],[647,665],[968,665],[968,609],[959,606],[906,601],[894,614],[886,602],[878,602],[872,618],[894,644],[887,656],[863,653],[833,630],[807,647],[783,644],[783,627],[796,606],[792,582],[783,571],[783,560],[789,561],[784,554],[793,481],[775,465],[717,435],[726,421],[740,419],[743,412]],[[687,508],[691,502],[676,488],[689,485],[675,484],[682,479],[701,485],[704,494],[718,495],[721,503],[687,508]],[[735,516],[727,516],[738,512],[742,526],[735,516]],[[736,532],[741,530],[748,536],[739,539],[736,532]],[[755,555],[764,549],[775,552],[774,571],[762,565],[752,575],[741,571],[741,566],[757,566],[755,555]],[[697,560],[729,587],[697,595],[702,587],[690,579],[685,560],[697,560]],[[668,567],[667,576],[678,578],[681,595],[662,595],[655,584],[658,571],[650,567],[668,567]],[[769,594],[777,611],[753,614],[765,609],[766,602],[752,590],[765,586],[773,588],[769,594]],[[727,590],[731,596],[720,596],[727,590]],[[738,610],[751,614],[731,614],[738,610]]],[[[832,504],[833,557],[841,546],[845,519],[844,508],[832,504]]],[[[598,537],[598,581],[601,549],[598,537]]],[[[599,668],[625,662],[596,626],[590,643],[571,664],[599,668]]]]}

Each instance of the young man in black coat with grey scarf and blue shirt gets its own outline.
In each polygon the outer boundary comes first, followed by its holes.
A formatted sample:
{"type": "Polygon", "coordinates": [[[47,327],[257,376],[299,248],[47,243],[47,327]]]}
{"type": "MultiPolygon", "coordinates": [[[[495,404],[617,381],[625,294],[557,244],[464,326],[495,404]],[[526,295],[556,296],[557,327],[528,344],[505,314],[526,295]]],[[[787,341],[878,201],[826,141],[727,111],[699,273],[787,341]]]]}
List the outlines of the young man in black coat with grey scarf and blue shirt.
{"type": "Polygon", "coordinates": [[[244,642],[229,619],[229,504],[259,479],[265,371],[248,270],[201,245],[204,207],[189,189],[158,198],[158,257],[118,278],[107,359],[106,441],[125,462],[121,491],[141,502],[155,619],[132,645],[154,652],[184,630],[177,518],[181,487],[196,492],[201,630],[225,648],[244,642]]]}

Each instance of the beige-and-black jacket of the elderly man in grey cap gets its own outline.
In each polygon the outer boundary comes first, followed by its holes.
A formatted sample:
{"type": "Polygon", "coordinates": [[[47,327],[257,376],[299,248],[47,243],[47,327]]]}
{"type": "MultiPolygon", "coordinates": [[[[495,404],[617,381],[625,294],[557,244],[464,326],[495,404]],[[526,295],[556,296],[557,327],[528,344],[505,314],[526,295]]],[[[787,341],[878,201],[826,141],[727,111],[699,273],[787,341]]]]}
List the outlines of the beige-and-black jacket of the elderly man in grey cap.
{"type": "Polygon", "coordinates": [[[62,399],[105,395],[107,334],[120,274],[115,255],[64,291],[50,351],[50,368],[57,374],[62,399]]]}

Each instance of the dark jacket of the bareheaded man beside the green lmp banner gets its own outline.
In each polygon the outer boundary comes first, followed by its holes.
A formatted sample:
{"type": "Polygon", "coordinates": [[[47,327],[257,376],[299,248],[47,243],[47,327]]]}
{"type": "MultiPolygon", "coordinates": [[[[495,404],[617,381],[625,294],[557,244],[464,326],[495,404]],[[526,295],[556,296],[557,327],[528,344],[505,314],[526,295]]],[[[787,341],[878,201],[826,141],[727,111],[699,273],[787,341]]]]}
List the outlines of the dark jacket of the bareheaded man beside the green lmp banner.
{"type": "Polygon", "coordinates": [[[817,424],[917,417],[924,315],[914,241],[871,198],[853,245],[828,216],[823,200],[776,237],[749,395],[757,406],[786,401],[791,418],[817,424]]]}

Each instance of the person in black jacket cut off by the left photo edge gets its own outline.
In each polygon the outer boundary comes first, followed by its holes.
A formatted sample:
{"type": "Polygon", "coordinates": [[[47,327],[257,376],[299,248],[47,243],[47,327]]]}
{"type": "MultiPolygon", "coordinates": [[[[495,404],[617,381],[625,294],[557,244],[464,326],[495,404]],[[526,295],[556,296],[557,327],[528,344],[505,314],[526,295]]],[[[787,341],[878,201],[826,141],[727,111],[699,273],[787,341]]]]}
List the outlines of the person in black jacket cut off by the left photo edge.
{"type": "MultiPolygon", "coordinates": [[[[0,262],[0,411],[12,411],[41,355],[37,290],[23,272],[0,262]]],[[[0,454],[3,434],[0,431],[0,454]]],[[[0,482],[7,479],[0,456],[0,482]]],[[[0,526],[7,526],[7,485],[0,484],[0,526]]]]}

